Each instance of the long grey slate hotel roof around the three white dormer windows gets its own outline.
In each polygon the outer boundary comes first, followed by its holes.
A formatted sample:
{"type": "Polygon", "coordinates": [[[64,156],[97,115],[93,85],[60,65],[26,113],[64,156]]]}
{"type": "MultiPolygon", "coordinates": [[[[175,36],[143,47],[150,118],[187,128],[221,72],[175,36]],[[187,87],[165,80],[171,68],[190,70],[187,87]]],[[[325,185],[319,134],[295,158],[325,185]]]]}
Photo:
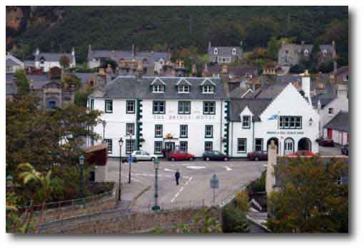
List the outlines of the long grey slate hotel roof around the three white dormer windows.
{"type": "Polygon", "coordinates": [[[189,93],[178,93],[176,83],[181,80],[181,77],[143,77],[140,81],[137,81],[135,76],[118,76],[118,78],[106,85],[103,98],[140,98],[153,100],[211,100],[226,98],[226,90],[220,78],[186,77],[184,79],[191,83],[191,92],[189,93]],[[166,83],[165,92],[154,93],[151,91],[151,83],[156,78],[166,83]],[[206,94],[201,92],[201,84],[206,79],[216,84],[215,93],[206,94]]]}

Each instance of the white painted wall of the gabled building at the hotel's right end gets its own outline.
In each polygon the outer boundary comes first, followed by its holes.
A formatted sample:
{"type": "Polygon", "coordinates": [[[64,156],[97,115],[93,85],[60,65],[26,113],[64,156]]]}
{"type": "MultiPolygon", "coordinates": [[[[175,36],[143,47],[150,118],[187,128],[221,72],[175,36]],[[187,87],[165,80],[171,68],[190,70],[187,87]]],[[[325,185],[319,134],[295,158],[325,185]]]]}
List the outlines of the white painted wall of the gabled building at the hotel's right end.
{"type": "MultiPolygon", "coordinates": [[[[318,152],[318,143],[315,139],[318,138],[318,123],[319,116],[313,107],[300,95],[293,87],[288,85],[278,95],[273,102],[261,114],[261,122],[256,122],[254,129],[254,137],[263,138],[263,150],[267,150],[267,142],[271,137],[277,137],[279,140],[279,154],[284,155],[284,140],[288,137],[294,140],[294,152],[298,149],[298,141],[307,137],[311,142],[311,150],[318,152]],[[268,120],[272,115],[281,116],[301,116],[302,129],[278,129],[278,120],[268,120]],[[309,124],[310,118],[313,119],[312,124],[309,124]]],[[[253,151],[253,123],[251,129],[242,129],[241,122],[232,122],[231,124],[231,149],[232,157],[246,157],[248,152],[253,151]],[[247,139],[247,153],[238,154],[237,144],[238,138],[247,139]]]]}

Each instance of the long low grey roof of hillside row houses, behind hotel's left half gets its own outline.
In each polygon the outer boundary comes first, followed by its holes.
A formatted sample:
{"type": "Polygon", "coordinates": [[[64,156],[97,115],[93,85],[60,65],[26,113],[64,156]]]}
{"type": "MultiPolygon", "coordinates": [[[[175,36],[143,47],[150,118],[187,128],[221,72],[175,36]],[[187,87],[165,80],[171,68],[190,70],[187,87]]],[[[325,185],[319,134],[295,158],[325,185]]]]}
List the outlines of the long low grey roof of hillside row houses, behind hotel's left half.
{"type": "Polygon", "coordinates": [[[163,60],[168,60],[169,56],[166,52],[136,51],[133,56],[131,51],[91,50],[91,53],[87,55],[87,59],[92,60],[93,58],[111,58],[116,61],[121,58],[125,60],[143,60],[146,58],[148,63],[152,63],[161,58],[163,58],[163,60]]]}

